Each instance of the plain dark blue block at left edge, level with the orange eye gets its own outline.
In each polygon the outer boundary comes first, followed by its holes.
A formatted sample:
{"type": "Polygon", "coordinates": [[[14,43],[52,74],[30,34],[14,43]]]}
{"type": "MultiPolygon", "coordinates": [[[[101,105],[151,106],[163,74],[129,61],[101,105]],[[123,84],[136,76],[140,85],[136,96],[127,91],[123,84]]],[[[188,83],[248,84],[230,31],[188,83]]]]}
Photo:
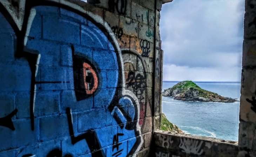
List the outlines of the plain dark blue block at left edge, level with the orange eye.
{"type": "Polygon", "coordinates": [[[29,65],[1,65],[1,91],[30,91],[31,70],[29,65]]]}

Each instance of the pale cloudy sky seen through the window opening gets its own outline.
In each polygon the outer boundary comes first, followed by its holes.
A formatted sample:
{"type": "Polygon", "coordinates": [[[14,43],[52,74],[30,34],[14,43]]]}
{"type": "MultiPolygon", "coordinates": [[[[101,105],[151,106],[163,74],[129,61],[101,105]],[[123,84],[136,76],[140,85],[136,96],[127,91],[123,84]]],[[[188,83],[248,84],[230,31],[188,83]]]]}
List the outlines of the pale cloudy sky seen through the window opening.
{"type": "Polygon", "coordinates": [[[243,0],[174,0],[162,7],[163,81],[240,81],[243,0]]]}

